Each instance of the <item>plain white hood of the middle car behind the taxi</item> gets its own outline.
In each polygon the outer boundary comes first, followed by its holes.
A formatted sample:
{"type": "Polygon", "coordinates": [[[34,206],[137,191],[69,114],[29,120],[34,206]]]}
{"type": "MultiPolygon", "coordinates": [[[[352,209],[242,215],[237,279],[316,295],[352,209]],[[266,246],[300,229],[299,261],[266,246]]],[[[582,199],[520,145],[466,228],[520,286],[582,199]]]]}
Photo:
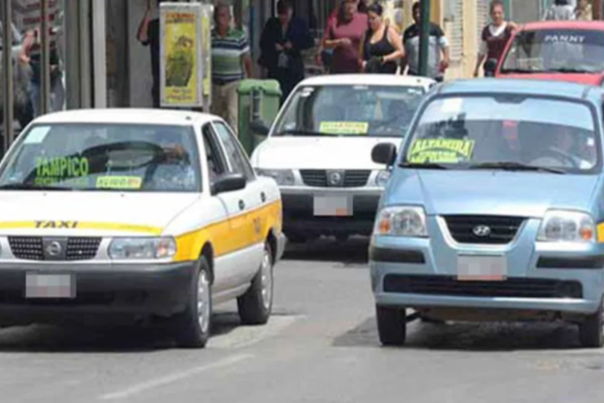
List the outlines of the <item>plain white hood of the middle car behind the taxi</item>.
{"type": "Polygon", "coordinates": [[[371,160],[377,143],[399,146],[396,137],[269,137],[254,151],[252,164],[265,169],[383,169],[371,160]]]}

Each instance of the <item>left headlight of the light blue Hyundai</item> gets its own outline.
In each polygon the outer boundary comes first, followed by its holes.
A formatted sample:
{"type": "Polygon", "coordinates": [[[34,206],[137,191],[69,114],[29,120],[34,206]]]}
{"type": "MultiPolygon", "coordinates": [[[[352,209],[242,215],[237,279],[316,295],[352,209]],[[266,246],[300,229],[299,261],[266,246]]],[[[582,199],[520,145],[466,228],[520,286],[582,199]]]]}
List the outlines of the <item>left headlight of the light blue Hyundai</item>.
{"type": "Polygon", "coordinates": [[[427,237],[426,213],[422,207],[386,207],[377,214],[376,235],[427,237]]]}

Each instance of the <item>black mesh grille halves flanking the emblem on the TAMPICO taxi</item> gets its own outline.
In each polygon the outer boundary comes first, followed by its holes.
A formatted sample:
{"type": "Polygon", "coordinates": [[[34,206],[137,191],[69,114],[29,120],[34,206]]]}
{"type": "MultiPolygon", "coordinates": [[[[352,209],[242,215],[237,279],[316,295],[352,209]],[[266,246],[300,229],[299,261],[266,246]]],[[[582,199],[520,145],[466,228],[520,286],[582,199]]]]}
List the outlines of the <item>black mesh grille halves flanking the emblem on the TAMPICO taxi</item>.
{"type": "MultiPolygon", "coordinates": [[[[100,237],[71,237],[67,240],[66,260],[89,260],[97,255],[100,237]]],[[[14,257],[24,260],[44,260],[42,237],[10,236],[8,244],[14,257]]]]}

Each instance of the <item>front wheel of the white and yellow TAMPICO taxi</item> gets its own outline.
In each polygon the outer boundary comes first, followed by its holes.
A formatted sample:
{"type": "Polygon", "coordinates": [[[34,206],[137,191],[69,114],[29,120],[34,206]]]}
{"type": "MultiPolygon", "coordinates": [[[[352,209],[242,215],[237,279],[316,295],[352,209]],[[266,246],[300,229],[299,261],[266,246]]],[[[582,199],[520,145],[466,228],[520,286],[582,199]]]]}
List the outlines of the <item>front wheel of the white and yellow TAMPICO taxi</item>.
{"type": "Polygon", "coordinates": [[[199,259],[194,273],[187,306],[173,318],[173,334],[182,348],[203,348],[210,338],[212,315],[212,286],[205,257],[199,259]]]}

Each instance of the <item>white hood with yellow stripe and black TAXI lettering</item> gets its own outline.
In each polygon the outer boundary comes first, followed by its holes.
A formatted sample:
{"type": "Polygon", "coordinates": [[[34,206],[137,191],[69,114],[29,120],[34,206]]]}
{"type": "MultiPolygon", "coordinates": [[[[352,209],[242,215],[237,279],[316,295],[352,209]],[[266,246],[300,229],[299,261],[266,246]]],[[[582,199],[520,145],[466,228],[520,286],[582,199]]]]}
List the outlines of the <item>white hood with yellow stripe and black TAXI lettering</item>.
{"type": "Polygon", "coordinates": [[[154,236],[198,193],[3,191],[0,235],[154,236]]]}

